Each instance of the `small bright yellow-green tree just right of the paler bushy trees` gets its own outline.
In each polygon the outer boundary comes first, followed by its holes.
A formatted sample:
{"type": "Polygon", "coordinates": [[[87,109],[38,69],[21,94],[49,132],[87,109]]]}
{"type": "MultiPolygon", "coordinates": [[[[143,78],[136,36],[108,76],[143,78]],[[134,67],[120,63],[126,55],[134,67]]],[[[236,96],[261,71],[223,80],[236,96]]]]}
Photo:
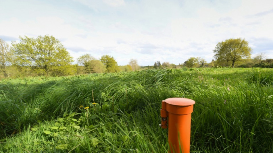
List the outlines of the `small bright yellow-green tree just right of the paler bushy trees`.
{"type": "Polygon", "coordinates": [[[120,71],[118,63],[110,55],[103,55],[101,57],[101,62],[106,66],[107,72],[118,72],[120,71]]]}

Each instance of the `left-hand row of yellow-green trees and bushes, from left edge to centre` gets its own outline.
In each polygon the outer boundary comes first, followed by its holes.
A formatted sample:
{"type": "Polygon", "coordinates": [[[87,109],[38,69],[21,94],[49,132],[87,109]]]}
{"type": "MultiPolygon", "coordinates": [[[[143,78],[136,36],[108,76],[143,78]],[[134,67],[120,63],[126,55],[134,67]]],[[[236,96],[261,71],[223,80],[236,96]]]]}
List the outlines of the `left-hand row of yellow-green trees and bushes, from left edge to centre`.
{"type": "Polygon", "coordinates": [[[139,69],[136,59],[118,66],[110,55],[95,59],[85,54],[77,64],[61,42],[53,36],[19,37],[11,46],[0,38],[0,78],[25,76],[64,76],[86,73],[133,71],[139,69]]]}

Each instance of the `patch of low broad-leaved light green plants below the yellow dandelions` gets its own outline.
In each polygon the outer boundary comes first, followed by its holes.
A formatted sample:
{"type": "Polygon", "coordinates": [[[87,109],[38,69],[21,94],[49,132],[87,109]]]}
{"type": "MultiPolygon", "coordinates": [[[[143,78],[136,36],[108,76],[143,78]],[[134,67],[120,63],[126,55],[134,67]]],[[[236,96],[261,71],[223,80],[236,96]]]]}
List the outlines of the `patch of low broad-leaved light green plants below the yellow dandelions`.
{"type": "MultiPolygon", "coordinates": [[[[76,141],[80,144],[85,144],[84,136],[86,133],[89,133],[91,136],[91,145],[96,146],[99,142],[95,137],[94,132],[91,132],[95,129],[94,125],[88,125],[88,109],[84,110],[82,113],[64,113],[63,117],[59,117],[55,120],[54,126],[48,126],[47,128],[41,128],[39,124],[36,124],[31,128],[32,131],[38,131],[43,129],[43,135],[47,137],[47,142],[49,144],[57,145],[56,149],[69,149],[71,148],[69,144],[76,141]]],[[[90,116],[90,114],[89,114],[90,116]]],[[[51,124],[52,125],[52,124],[51,124]]]]}

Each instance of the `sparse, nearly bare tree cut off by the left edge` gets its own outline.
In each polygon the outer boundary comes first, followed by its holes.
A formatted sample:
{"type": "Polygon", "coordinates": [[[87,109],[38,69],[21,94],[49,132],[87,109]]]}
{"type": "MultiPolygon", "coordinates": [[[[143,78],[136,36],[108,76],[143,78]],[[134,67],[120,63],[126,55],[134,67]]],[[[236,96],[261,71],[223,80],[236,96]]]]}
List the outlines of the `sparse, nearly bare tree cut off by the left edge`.
{"type": "Polygon", "coordinates": [[[5,78],[7,74],[6,66],[11,64],[13,54],[9,50],[9,44],[0,38],[0,71],[4,73],[5,78]]]}

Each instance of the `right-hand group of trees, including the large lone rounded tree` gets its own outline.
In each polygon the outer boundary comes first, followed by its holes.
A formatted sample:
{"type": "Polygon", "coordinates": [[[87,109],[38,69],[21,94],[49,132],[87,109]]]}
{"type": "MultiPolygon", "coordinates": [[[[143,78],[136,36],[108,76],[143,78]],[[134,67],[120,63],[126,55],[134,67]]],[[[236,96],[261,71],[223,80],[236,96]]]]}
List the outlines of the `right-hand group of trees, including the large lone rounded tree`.
{"type": "Polygon", "coordinates": [[[273,59],[266,59],[265,53],[259,53],[251,59],[252,49],[242,38],[227,39],[218,42],[214,58],[207,63],[201,57],[190,57],[184,62],[186,67],[273,67],[273,59]]]}

